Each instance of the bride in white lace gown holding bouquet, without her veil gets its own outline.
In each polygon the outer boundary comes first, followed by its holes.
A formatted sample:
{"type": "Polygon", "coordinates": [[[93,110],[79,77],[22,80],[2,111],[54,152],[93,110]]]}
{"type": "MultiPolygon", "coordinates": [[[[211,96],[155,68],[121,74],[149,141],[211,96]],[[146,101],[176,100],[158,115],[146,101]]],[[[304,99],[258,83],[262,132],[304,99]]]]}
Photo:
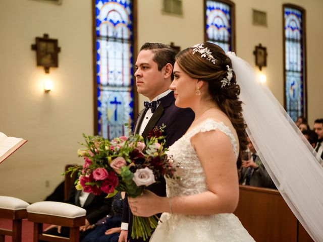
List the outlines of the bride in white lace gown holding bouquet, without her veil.
{"type": "Polygon", "coordinates": [[[167,198],[150,191],[129,198],[132,213],[163,213],[150,241],[254,241],[233,214],[239,200],[239,153],[247,147],[240,87],[231,59],[218,45],[181,51],[174,66],[176,106],[195,119],[168,151],[178,179],[167,198]]]}

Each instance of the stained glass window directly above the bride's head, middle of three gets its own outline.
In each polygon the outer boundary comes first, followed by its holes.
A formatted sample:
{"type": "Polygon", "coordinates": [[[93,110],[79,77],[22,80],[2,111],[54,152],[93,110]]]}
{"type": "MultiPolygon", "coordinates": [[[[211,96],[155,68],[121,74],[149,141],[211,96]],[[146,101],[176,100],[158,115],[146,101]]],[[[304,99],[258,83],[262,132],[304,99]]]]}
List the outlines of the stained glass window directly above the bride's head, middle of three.
{"type": "Polygon", "coordinates": [[[205,41],[221,46],[225,52],[235,50],[234,3],[205,1],[205,41]]]}

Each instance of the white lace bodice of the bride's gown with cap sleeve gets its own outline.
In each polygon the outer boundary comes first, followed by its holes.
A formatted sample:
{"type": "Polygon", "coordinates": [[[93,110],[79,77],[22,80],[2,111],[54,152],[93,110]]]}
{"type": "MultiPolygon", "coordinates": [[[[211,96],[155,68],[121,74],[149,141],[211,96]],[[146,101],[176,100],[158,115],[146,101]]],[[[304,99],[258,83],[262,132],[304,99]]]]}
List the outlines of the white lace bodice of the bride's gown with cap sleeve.
{"type": "Polygon", "coordinates": [[[211,130],[219,130],[226,134],[231,141],[236,157],[238,157],[237,142],[229,127],[214,119],[204,120],[170,146],[167,152],[176,167],[176,175],[180,177],[180,179],[166,179],[168,197],[199,194],[207,191],[204,170],[190,140],[197,133],[211,130]]]}

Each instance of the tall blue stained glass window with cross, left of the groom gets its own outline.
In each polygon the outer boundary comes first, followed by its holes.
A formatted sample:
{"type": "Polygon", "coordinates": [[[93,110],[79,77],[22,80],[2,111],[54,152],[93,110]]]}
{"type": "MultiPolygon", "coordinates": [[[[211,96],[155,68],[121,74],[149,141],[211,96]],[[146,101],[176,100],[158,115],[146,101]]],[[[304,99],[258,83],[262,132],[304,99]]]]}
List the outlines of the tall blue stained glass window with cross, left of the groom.
{"type": "Polygon", "coordinates": [[[95,1],[96,131],[108,139],[133,122],[132,8],[131,0],[95,1]]]}

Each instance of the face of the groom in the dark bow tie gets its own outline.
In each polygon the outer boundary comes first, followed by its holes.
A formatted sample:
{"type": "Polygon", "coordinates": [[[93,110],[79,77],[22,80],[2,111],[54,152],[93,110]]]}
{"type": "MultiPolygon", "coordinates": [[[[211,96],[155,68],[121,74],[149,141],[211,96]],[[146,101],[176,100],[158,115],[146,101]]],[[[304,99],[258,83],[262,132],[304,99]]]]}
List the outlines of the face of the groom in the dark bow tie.
{"type": "Polygon", "coordinates": [[[165,67],[158,71],[158,65],[153,61],[151,50],[141,50],[136,62],[136,85],[138,93],[148,97],[150,100],[160,94],[165,86],[165,67]]]}

